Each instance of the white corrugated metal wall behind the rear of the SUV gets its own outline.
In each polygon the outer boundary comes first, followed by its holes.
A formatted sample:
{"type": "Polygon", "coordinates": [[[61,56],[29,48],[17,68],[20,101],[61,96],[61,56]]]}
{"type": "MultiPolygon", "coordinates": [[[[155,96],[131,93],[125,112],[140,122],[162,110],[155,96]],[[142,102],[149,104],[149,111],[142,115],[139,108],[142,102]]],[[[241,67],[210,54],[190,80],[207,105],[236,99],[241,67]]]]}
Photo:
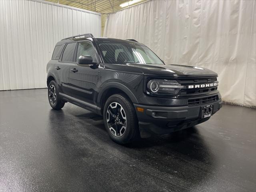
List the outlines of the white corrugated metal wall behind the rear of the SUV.
{"type": "Polygon", "coordinates": [[[0,0],[0,90],[46,87],[56,42],[100,36],[100,14],[40,0],[0,0]]]}

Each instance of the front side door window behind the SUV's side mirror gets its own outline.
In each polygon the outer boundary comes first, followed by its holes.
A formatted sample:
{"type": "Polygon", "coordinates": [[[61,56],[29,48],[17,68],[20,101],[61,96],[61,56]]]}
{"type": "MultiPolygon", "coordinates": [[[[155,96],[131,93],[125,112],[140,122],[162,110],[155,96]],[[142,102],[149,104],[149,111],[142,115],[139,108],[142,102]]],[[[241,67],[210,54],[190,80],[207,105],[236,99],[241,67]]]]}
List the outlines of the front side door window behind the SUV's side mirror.
{"type": "Polygon", "coordinates": [[[79,42],[76,54],[76,62],[80,55],[89,55],[92,57],[92,62],[98,62],[93,45],[90,42],[79,42]]]}

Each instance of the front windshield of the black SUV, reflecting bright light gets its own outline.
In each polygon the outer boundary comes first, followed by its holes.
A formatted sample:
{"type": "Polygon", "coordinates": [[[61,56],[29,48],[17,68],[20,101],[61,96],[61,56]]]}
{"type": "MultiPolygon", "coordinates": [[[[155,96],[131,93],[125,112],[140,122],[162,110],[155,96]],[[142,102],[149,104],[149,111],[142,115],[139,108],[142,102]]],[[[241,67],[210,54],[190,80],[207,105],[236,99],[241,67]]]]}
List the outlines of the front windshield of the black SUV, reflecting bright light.
{"type": "Polygon", "coordinates": [[[142,45],[98,42],[104,63],[164,64],[154,52],[142,45]]]}

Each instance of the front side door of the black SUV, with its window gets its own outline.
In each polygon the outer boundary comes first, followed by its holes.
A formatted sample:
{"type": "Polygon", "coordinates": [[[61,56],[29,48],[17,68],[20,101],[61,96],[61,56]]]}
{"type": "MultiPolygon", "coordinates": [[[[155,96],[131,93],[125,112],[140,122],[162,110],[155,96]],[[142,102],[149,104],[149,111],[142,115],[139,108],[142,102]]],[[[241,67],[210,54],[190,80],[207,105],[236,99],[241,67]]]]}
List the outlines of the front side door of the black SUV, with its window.
{"type": "Polygon", "coordinates": [[[70,65],[69,68],[72,96],[85,102],[94,103],[99,69],[94,65],[78,64],[80,55],[89,55],[93,62],[98,62],[92,43],[89,41],[78,42],[75,55],[76,63],[70,65]]]}

